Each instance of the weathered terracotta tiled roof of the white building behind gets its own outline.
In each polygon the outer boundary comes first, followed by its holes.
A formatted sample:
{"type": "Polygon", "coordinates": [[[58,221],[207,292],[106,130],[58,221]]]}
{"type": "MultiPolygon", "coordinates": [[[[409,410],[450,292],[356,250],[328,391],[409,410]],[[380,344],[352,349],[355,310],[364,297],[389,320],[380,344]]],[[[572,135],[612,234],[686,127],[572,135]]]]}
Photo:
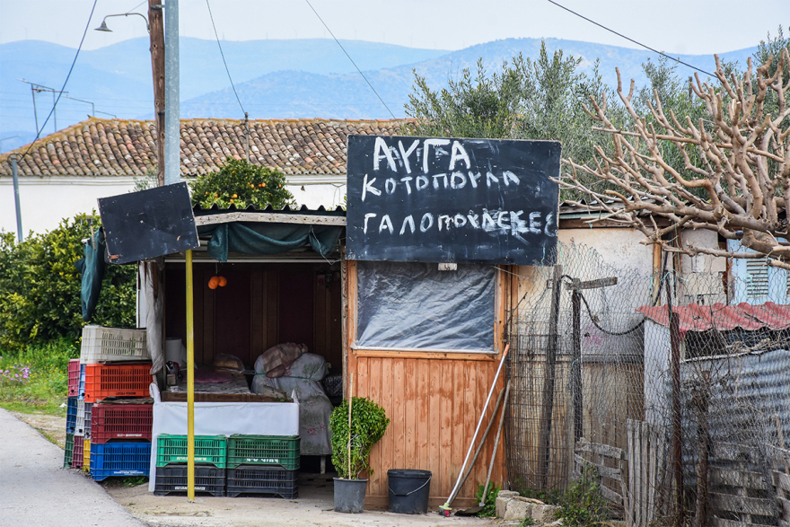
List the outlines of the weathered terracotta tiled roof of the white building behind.
{"type": "MultiPolygon", "coordinates": [[[[250,120],[250,162],[285,174],[345,174],[346,138],[394,136],[403,120],[250,120]]],[[[181,119],[181,174],[216,171],[228,156],[246,157],[244,121],[181,119]]],[[[20,176],[144,176],[156,166],[154,121],[90,118],[41,138],[19,163],[20,176]]],[[[10,176],[0,155],[0,176],[10,176]]]]}

